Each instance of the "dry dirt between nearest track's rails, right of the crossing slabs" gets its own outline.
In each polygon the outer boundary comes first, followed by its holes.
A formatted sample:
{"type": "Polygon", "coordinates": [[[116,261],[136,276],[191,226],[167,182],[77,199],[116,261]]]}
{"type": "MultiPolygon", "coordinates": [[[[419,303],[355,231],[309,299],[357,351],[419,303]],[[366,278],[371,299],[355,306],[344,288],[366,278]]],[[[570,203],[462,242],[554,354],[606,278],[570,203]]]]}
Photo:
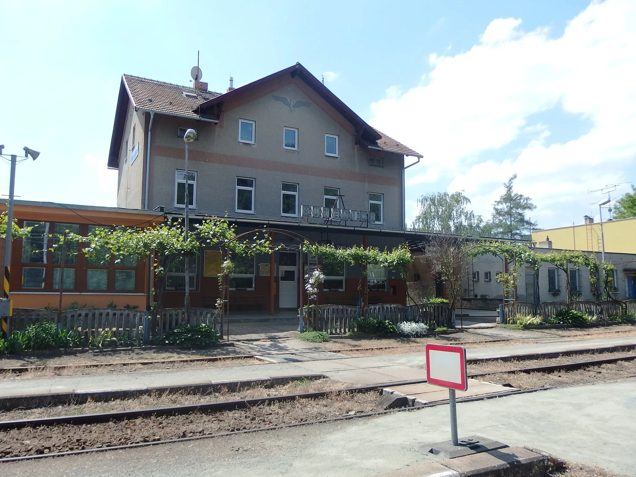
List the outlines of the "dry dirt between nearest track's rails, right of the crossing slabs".
{"type": "Polygon", "coordinates": [[[590,366],[574,371],[553,371],[552,373],[493,373],[480,376],[480,381],[505,382],[518,389],[536,389],[539,387],[568,384],[591,384],[609,380],[636,379],[636,361],[590,366]]]}

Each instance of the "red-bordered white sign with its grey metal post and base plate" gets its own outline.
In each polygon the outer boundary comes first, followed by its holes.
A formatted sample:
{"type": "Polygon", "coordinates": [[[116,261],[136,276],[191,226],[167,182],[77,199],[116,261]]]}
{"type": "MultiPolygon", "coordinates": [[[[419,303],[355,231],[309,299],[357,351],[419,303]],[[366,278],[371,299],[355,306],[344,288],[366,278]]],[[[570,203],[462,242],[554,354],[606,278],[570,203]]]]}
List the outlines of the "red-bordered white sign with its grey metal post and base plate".
{"type": "Polygon", "coordinates": [[[467,391],[468,373],[466,370],[466,348],[451,345],[426,345],[426,379],[429,384],[448,389],[450,405],[450,442],[443,441],[421,446],[426,453],[440,455],[446,459],[461,457],[471,453],[507,447],[498,441],[481,436],[457,438],[457,401],[456,391],[467,391]]]}

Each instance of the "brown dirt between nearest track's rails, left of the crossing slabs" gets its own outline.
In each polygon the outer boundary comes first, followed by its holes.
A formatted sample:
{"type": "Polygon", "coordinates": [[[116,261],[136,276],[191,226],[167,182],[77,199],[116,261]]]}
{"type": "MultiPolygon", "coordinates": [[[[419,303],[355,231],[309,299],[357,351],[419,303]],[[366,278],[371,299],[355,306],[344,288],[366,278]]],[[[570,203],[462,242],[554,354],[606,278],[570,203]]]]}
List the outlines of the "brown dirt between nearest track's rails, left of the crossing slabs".
{"type": "Polygon", "coordinates": [[[163,439],[258,429],[377,410],[377,392],[337,393],[244,410],[144,417],[91,425],[41,426],[0,431],[0,458],[99,448],[163,439]]]}

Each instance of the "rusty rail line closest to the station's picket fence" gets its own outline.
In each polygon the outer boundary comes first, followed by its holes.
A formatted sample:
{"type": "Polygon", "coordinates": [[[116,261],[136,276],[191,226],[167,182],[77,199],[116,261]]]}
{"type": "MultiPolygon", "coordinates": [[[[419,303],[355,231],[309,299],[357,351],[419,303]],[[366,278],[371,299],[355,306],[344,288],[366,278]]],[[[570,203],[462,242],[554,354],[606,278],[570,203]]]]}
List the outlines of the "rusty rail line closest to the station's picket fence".
{"type": "MultiPolygon", "coordinates": [[[[551,336],[551,338],[574,338],[577,336],[588,336],[588,335],[604,335],[604,334],[613,334],[613,333],[623,333],[623,331],[603,331],[602,333],[577,333],[576,335],[558,335],[551,336]]],[[[478,340],[471,342],[453,342],[450,344],[453,345],[469,345],[469,344],[478,344],[478,343],[497,343],[497,342],[506,342],[506,341],[517,341],[520,338],[501,338],[496,340],[478,340]]],[[[522,338],[522,339],[530,339],[530,338],[522,338]]],[[[380,351],[380,350],[394,350],[394,349],[409,349],[413,347],[422,347],[424,344],[412,344],[412,345],[397,345],[397,346],[378,346],[378,347],[365,347],[365,348],[341,348],[341,349],[329,349],[329,350],[307,350],[307,351],[296,351],[293,354],[308,354],[315,352],[332,352],[332,353],[342,353],[342,352],[360,352],[360,351],[380,351]]],[[[205,357],[191,357],[191,358],[179,358],[179,359],[155,359],[155,360],[144,360],[144,361],[109,361],[106,363],[74,363],[74,364],[36,364],[32,366],[8,366],[4,368],[0,368],[0,373],[26,373],[28,371],[40,371],[40,370],[51,370],[51,371],[62,371],[69,369],[79,369],[79,368],[106,368],[109,366],[144,366],[150,364],[179,364],[179,363],[212,363],[214,361],[228,361],[228,360],[237,360],[240,361],[242,359],[258,359],[258,357],[265,356],[277,356],[280,354],[289,354],[290,351],[281,351],[281,352],[273,352],[273,353],[261,353],[261,354],[237,354],[237,355],[228,355],[228,356],[205,356],[205,357]]]]}

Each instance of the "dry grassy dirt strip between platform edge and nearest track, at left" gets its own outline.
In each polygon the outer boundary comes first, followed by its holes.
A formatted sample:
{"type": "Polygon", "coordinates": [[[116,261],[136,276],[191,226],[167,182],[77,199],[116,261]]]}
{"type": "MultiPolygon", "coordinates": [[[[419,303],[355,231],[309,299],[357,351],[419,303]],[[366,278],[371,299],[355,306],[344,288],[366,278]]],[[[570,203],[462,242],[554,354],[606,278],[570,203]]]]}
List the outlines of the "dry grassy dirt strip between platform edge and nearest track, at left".
{"type": "Polygon", "coordinates": [[[341,381],[331,379],[298,380],[284,385],[272,387],[250,386],[240,391],[230,392],[221,390],[205,394],[188,392],[155,392],[145,396],[130,399],[113,399],[112,401],[91,401],[85,404],[68,404],[64,406],[41,406],[34,409],[15,409],[0,411],[0,420],[35,419],[41,417],[73,416],[79,414],[93,414],[113,411],[130,411],[135,409],[159,408],[168,406],[187,406],[189,404],[218,403],[220,401],[235,401],[236,399],[254,399],[256,397],[286,396],[303,392],[331,391],[332,389],[346,389],[353,387],[341,381]]]}

